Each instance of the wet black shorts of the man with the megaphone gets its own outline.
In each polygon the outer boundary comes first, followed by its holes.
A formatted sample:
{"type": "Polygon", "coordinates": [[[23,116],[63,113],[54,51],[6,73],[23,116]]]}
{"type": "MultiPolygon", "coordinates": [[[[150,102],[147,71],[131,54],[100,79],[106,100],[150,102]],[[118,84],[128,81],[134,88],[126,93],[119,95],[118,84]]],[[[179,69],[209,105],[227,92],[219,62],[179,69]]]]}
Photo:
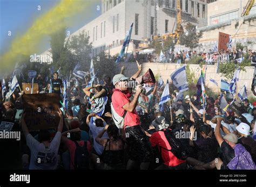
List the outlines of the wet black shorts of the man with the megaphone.
{"type": "Polygon", "coordinates": [[[152,147],[142,126],[126,126],[126,141],[129,146],[129,158],[136,162],[150,162],[152,147]]]}

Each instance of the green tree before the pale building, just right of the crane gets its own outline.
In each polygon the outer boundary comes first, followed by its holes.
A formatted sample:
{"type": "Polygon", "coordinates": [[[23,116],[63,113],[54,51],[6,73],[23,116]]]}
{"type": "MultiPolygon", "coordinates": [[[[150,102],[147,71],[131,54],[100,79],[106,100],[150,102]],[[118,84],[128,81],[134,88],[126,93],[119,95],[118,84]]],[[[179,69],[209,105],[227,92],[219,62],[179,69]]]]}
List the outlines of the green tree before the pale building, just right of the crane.
{"type": "Polygon", "coordinates": [[[187,23],[185,26],[185,32],[180,35],[180,45],[185,45],[190,49],[196,48],[199,46],[199,39],[203,36],[203,33],[197,32],[196,26],[191,23],[187,23]]]}

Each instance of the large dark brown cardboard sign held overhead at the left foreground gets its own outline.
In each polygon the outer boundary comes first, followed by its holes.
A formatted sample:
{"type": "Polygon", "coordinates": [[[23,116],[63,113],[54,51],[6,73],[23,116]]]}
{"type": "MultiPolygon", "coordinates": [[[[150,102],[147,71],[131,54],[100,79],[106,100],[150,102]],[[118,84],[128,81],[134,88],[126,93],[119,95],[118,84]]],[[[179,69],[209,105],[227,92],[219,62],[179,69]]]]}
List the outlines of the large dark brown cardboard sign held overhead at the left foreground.
{"type": "Polygon", "coordinates": [[[51,129],[58,126],[59,99],[57,93],[22,95],[26,112],[25,122],[29,131],[51,129]]]}

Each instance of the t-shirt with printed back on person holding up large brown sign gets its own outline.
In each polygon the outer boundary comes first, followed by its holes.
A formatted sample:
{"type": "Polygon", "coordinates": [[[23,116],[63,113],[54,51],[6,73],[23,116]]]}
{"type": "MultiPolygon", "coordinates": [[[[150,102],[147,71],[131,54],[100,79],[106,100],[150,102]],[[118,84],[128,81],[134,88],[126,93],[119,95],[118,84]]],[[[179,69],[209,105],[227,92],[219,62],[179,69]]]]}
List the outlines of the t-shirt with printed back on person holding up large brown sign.
{"type": "Polygon", "coordinates": [[[31,134],[26,136],[26,145],[31,150],[29,169],[56,169],[57,155],[62,134],[57,132],[50,143],[50,147],[45,147],[39,143],[31,134]]]}

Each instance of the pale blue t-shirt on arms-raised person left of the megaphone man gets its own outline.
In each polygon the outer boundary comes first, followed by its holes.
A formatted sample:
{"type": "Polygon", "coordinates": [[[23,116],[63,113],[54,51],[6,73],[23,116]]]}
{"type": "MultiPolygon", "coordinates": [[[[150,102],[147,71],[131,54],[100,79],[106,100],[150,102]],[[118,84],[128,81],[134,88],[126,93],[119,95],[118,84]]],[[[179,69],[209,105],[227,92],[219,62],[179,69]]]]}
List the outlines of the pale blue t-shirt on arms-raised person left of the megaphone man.
{"type": "MultiPolygon", "coordinates": [[[[106,126],[106,122],[103,121],[103,125],[104,127],[106,126]]],[[[97,127],[95,125],[95,123],[89,123],[89,127],[90,127],[90,131],[92,133],[92,137],[93,137],[93,147],[95,148],[97,154],[102,155],[104,147],[102,145],[100,145],[99,143],[96,142],[96,137],[99,134],[100,131],[104,130],[104,127],[97,127]]],[[[109,138],[109,136],[107,135],[107,132],[105,132],[102,136],[102,138],[109,138]]]]}

